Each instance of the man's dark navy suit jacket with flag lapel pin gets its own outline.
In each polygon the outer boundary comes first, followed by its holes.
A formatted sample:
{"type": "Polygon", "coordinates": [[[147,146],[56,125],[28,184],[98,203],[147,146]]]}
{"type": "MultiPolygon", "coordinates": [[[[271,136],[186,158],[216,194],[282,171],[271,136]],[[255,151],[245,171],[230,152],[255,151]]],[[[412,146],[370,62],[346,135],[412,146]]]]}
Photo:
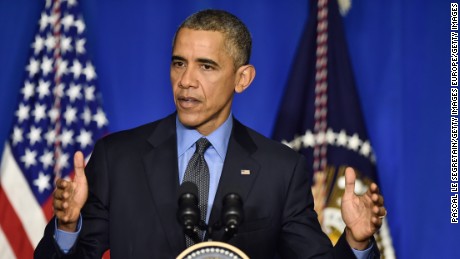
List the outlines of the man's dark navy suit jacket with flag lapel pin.
{"type": "MultiPolygon", "coordinates": [[[[89,198],[76,245],[64,255],[54,219],[35,258],[175,258],[186,248],[176,219],[179,188],[176,114],[111,134],[96,144],[86,167],[89,198]]],[[[234,120],[209,224],[222,199],[236,191],[244,222],[229,243],[250,258],[355,258],[343,234],[333,248],[313,210],[303,156],[234,120]],[[249,174],[242,174],[249,170],[249,174]]],[[[221,240],[223,231],[213,234],[221,240]]],[[[375,245],[374,245],[375,246],[375,245]]],[[[378,257],[378,249],[371,252],[378,257]]]]}

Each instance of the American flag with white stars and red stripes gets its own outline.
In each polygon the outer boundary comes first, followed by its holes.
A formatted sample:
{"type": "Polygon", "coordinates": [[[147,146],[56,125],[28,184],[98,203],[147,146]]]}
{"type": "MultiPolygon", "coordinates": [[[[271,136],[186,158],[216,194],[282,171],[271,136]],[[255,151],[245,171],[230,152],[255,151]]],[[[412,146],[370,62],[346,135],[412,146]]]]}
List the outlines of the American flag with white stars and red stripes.
{"type": "Polygon", "coordinates": [[[0,167],[0,258],[32,258],[53,215],[56,177],[90,155],[107,118],[76,0],[47,0],[0,167]]]}

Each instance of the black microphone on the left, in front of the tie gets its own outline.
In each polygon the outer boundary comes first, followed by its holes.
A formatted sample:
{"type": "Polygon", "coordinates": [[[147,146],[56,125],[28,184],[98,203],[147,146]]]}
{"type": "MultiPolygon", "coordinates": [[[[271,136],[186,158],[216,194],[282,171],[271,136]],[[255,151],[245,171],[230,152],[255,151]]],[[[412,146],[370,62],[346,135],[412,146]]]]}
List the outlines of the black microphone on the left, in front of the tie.
{"type": "Polygon", "coordinates": [[[179,187],[179,209],[177,220],[182,224],[184,232],[193,236],[200,221],[200,210],[198,208],[198,187],[192,182],[183,182],[179,187]]]}

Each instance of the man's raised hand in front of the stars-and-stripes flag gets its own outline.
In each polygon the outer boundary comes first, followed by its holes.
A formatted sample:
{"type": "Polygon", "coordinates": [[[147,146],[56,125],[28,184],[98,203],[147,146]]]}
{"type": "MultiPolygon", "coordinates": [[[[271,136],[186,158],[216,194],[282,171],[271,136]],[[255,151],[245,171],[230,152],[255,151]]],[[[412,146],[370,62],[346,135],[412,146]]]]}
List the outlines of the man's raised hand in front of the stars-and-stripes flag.
{"type": "Polygon", "coordinates": [[[83,153],[75,152],[73,161],[75,169],[73,181],[58,179],[53,195],[58,229],[68,232],[75,232],[81,208],[88,199],[88,182],[86,181],[83,153]]]}

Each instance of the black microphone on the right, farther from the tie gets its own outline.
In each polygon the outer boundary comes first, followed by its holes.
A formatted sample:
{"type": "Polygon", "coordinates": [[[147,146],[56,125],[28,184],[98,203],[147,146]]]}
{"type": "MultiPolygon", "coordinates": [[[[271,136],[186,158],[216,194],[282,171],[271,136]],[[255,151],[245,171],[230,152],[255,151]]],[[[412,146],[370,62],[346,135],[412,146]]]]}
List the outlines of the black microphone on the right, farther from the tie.
{"type": "Polygon", "coordinates": [[[236,193],[228,193],[223,199],[222,222],[225,226],[225,239],[229,240],[237,232],[238,227],[243,223],[243,201],[236,193]]]}

